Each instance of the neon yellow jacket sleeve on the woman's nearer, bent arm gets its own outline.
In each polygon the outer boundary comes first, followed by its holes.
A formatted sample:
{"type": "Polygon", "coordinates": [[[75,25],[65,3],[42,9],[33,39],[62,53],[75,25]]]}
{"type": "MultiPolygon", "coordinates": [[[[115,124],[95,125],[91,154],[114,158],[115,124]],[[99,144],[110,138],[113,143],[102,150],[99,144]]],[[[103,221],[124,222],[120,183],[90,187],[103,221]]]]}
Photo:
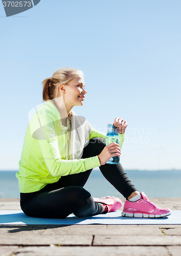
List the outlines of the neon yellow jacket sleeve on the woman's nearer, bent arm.
{"type": "Polygon", "coordinates": [[[85,172],[100,166],[98,156],[86,159],[64,160],[60,157],[56,120],[48,113],[35,113],[31,122],[32,136],[39,140],[42,158],[49,172],[54,177],[85,172]]]}

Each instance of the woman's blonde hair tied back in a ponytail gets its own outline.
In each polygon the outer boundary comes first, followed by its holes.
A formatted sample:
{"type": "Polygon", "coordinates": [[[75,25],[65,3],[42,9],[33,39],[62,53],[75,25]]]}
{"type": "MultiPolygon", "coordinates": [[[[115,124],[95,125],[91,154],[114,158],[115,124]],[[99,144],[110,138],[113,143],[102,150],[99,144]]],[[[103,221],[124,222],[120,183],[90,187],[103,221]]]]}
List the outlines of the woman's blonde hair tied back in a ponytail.
{"type": "Polygon", "coordinates": [[[78,69],[61,68],[55,71],[52,77],[44,79],[42,97],[43,101],[52,100],[58,97],[58,86],[60,83],[67,85],[75,77],[84,76],[83,72],[78,69]]]}

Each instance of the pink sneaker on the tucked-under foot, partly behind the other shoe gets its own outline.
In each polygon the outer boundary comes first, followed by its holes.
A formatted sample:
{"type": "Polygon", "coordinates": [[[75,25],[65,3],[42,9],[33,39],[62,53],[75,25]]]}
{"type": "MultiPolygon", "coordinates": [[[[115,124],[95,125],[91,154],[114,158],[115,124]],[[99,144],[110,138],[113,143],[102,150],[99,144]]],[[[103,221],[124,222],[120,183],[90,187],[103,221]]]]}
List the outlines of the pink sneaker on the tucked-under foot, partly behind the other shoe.
{"type": "Polygon", "coordinates": [[[107,210],[108,210],[106,212],[118,210],[119,208],[121,208],[121,206],[123,204],[121,199],[119,199],[117,197],[107,196],[106,198],[101,197],[101,198],[93,198],[93,199],[97,203],[102,203],[102,204],[106,205],[107,210]]]}

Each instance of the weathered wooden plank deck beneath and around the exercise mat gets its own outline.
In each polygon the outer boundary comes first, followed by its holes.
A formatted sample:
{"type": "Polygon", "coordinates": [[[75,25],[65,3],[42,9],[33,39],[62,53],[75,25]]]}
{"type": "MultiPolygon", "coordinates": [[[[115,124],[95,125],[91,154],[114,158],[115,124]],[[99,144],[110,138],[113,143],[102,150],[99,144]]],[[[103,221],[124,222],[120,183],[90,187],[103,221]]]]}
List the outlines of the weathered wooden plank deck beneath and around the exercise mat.
{"type": "MultiPolygon", "coordinates": [[[[149,199],[181,210],[181,198],[149,199]]],[[[19,210],[19,199],[1,198],[0,209],[19,210]]],[[[181,225],[0,225],[0,256],[15,255],[181,256],[181,225]]]]}

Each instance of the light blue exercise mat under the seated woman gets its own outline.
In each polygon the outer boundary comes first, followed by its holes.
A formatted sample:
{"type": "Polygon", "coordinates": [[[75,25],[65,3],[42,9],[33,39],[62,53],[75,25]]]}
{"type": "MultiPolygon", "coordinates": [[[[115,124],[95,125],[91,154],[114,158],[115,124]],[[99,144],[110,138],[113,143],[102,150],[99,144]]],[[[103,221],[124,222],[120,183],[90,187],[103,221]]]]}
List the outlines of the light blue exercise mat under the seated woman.
{"type": "Polygon", "coordinates": [[[117,225],[147,225],[147,224],[181,224],[181,211],[172,210],[172,214],[164,218],[129,218],[122,217],[121,210],[108,212],[87,218],[78,218],[74,214],[65,219],[33,218],[21,210],[0,210],[0,225],[89,225],[89,224],[117,224],[117,225]]]}

